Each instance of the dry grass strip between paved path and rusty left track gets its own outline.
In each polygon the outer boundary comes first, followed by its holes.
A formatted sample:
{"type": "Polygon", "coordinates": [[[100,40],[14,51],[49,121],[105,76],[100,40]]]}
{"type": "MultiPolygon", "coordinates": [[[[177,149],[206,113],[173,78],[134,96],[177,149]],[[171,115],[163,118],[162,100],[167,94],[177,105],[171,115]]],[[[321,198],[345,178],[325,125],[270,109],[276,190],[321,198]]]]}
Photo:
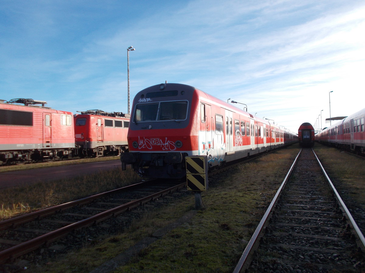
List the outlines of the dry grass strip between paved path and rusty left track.
{"type": "Polygon", "coordinates": [[[115,168],[68,180],[5,188],[0,192],[0,219],[127,186],[135,181],[140,178],[131,169],[115,168]]]}

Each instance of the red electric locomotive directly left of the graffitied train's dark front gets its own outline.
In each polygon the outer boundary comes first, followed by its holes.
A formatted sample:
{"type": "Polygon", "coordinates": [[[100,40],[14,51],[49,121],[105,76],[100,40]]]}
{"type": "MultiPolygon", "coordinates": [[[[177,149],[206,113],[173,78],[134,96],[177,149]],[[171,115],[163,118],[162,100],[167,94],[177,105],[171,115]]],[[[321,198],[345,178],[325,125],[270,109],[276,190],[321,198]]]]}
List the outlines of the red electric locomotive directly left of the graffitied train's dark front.
{"type": "Polygon", "coordinates": [[[128,151],[129,119],[129,114],[101,110],[74,115],[78,154],[81,157],[99,157],[128,151]]]}

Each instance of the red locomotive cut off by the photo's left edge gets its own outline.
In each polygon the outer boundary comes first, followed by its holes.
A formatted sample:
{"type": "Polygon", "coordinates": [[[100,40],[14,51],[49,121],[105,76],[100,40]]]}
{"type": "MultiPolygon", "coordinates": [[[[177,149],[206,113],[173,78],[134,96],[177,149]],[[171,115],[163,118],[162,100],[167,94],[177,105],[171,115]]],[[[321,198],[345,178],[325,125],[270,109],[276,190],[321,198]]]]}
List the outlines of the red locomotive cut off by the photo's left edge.
{"type": "Polygon", "coordinates": [[[12,99],[7,103],[0,101],[0,160],[3,164],[53,160],[73,155],[72,113],[54,110],[45,107],[45,104],[33,99],[12,99]]]}

